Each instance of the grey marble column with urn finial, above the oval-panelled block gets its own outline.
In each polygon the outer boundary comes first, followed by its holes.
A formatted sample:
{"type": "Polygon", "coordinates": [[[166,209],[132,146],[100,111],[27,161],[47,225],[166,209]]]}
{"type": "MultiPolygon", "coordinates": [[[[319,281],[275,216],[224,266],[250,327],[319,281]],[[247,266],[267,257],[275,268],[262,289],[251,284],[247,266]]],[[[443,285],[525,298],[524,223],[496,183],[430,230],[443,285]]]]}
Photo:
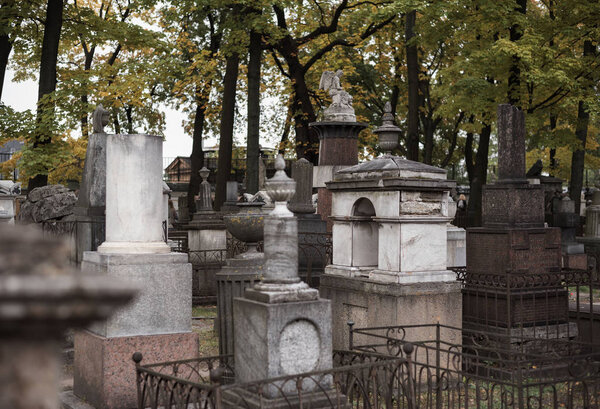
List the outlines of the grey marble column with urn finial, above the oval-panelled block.
{"type": "Polygon", "coordinates": [[[298,276],[298,219],[287,208],[296,182],[285,174],[281,154],[275,160],[275,169],[275,175],[265,184],[275,208],[264,221],[263,280],[246,290],[246,297],[267,303],[314,300],[319,292],[298,276]]]}

